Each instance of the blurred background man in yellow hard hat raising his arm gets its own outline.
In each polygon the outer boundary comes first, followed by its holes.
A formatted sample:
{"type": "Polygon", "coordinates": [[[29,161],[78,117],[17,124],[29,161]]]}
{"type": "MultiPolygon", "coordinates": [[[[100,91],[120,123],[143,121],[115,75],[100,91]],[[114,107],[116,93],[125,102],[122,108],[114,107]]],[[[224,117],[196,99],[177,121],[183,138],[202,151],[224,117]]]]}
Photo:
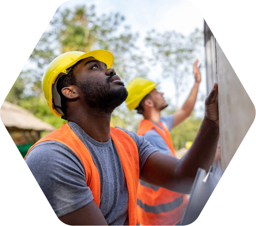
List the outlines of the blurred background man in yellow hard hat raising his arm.
{"type": "MultiPolygon", "coordinates": [[[[137,134],[145,137],[151,145],[164,154],[176,157],[169,131],[188,117],[195,105],[201,81],[198,60],[194,64],[195,84],[185,104],[174,114],[161,117],[161,111],[168,106],[163,93],[158,92],[156,83],[136,78],[127,85],[129,96],[127,107],[142,114],[137,134]]],[[[141,225],[179,225],[187,206],[185,195],[155,186],[140,180],[137,208],[141,225]]]]}

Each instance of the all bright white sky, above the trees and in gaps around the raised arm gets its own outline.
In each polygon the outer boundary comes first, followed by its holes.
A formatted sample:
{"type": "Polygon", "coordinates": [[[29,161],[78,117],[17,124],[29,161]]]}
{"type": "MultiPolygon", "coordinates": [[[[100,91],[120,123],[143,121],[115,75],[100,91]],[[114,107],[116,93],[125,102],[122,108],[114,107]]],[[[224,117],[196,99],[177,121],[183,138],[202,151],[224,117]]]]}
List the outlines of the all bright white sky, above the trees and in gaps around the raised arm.
{"type": "MultiPolygon", "coordinates": [[[[195,28],[203,30],[204,18],[197,8],[190,1],[185,0],[70,0],[62,3],[59,8],[73,8],[76,5],[87,6],[95,5],[96,14],[109,14],[110,12],[120,12],[125,16],[124,24],[130,25],[133,32],[139,32],[140,39],[137,44],[140,45],[142,51],[150,51],[146,49],[143,44],[143,40],[146,36],[146,32],[155,29],[157,32],[164,32],[175,30],[181,32],[184,35],[190,34],[195,28]]],[[[204,59],[204,51],[199,59],[204,59]]],[[[200,63],[200,62],[199,62],[200,63]]],[[[206,79],[205,79],[205,67],[202,65],[201,75],[202,82],[200,84],[201,94],[206,94],[206,79]]],[[[191,77],[193,65],[191,65],[191,77]]],[[[171,78],[161,78],[161,68],[150,67],[149,79],[161,82],[159,89],[165,93],[165,97],[172,99],[174,103],[174,85],[171,78]]],[[[180,105],[184,103],[189,92],[193,86],[193,80],[187,87],[187,92],[180,98],[180,105]]],[[[203,112],[199,110],[199,103],[196,104],[196,115],[203,116],[203,112]]]]}

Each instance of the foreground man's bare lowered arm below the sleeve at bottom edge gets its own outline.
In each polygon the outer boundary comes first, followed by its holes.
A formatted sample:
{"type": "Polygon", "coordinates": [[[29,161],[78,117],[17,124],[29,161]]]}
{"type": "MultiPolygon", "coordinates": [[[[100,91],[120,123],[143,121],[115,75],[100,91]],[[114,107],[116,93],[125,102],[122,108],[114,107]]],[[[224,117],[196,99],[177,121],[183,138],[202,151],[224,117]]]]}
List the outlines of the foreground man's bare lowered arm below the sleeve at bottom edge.
{"type": "Polygon", "coordinates": [[[94,201],[84,207],[59,217],[66,225],[107,225],[105,217],[94,201]]]}

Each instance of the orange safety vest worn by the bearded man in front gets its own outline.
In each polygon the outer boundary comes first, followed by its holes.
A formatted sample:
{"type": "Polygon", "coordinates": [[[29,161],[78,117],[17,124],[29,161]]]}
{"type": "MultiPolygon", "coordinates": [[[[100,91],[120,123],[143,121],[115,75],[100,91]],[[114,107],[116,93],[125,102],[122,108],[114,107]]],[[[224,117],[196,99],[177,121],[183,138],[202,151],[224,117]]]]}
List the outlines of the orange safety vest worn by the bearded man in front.
{"type": "MultiPolygon", "coordinates": [[[[119,154],[124,174],[127,182],[129,201],[129,225],[137,225],[139,223],[139,217],[137,214],[136,201],[137,201],[137,187],[139,182],[139,153],[138,148],[134,140],[126,134],[124,131],[115,127],[110,127],[110,136],[116,145],[117,152],[119,154]]],[[[65,123],[60,129],[57,129],[50,134],[46,135],[39,141],[37,141],[32,147],[43,141],[59,141],[69,147],[79,157],[84,165],[86,184],[90,187],[94,202],[100,206],[100,176],[97,170],[91,154],[83,142],[76,136],[70,126],[65,123]]],[[[27,154],[30,152],[29,149],[27,154]]],[[[27,156],[27,155],[26,155],[27,156]]],[[[25,156],[25,158],[26,158],[25,156]]],[[[25,159],[24,158],[24,159],[25,159]]]]}

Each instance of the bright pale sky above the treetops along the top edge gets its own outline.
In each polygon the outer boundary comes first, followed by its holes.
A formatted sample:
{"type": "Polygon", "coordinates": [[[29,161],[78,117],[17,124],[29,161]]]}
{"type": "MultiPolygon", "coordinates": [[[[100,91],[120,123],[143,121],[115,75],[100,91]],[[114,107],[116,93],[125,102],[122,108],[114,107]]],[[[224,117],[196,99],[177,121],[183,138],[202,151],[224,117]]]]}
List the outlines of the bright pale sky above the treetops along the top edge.
{"type": "Polygon", "coordinates": [[[196,5],[185,0],[70,0],[59,8],[76,5],[95,5],[97,15],[120,12],[125,16],[125,23],[141,36],[146,31],[176,30],[187,35],[195,27],[203,28],[203,16],[196,5]]]}

